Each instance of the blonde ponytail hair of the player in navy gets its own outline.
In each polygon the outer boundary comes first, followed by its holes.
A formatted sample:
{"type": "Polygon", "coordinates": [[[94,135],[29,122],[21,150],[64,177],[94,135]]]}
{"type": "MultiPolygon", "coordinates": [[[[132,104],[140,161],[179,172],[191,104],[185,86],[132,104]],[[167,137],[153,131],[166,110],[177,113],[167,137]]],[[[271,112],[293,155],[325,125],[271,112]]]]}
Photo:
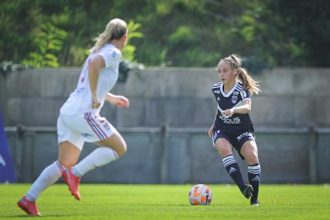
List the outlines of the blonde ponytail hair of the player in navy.
{"type": "Polygon", "coordinates": [[[225,62],[228,63],[228,65],[230,65],[231,69],[237,69],[238,70],[238,77],[239,80],[241,80],[241,83],[243,83],[243,88],[247,89],[251,96],[253,94],[259,94],[259,92],[261,92],[261,90],[259,89],[260,85],[260,81],[256,81],[254,80],[248,73],[248,70],[241,67],[242,65],[242,61],[241,58],[239,56],[237,56],[236,54],[232,54],[226,58],[221,59],[221,61],[219,62],[219,64],[221,62],[225,62]]]}

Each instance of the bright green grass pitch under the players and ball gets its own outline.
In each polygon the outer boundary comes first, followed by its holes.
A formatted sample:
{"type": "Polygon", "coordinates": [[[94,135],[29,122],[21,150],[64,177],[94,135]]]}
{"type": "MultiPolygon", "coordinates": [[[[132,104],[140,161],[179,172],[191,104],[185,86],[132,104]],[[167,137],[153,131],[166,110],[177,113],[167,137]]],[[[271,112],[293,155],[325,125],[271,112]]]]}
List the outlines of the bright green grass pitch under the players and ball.
{"type": "MultiPolygon", "coordinates": [[[[82,184],[76,201],[55,184],[38,200],[46,219],[330,219],[330,186],[262,185],[261,206],[250,206],[233,185],[209,185],[210,206],[190,206],[192,185],[82,184]]],[[[0,219],[27,219],[17,200],[30,184],[0,184],[0,219]]],[[[30,219],[30,217],[28,217],[30,219]]]]}

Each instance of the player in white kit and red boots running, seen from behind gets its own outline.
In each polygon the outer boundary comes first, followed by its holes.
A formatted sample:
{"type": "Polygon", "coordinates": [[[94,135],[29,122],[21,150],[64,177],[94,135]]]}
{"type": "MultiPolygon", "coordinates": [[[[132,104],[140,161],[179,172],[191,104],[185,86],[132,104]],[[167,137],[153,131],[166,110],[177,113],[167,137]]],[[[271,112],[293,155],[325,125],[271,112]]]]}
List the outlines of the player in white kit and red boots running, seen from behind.
{"type": "Polygon", "coordinates": [[[113,19],[96,38],[77,88],[60,110],[57,122],[58,160],[43,170],[26,195],[17,202],[26,213],[41,215],[36,199],[61,176],[72,195],[80,200],[80,178],[126,153],[126,142],[120,133],[99,113],[106,100],[118,107],[129,107],[126,97],[109,93],[118,79],[121,50],[126,45],[127,34],[126,22],[113,19]],[[100,147],[76,164],[84,142],[94,142],[100,147]]]}

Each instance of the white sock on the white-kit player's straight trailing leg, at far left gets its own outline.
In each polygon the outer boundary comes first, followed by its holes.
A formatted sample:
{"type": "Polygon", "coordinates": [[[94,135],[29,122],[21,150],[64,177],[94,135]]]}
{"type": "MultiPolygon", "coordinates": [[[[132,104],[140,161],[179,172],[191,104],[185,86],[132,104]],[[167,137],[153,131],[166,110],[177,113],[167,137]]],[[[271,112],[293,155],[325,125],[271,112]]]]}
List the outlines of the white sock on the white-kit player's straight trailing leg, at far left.
{"type": "Polygon", "coordinates": [[[48,186],[54,184],[61,177],[61,170],[65,169],[58,161],[47,166],[34,181],[30,190],[26,193],[25,198],[30,201],[36,201],[40,193],[48,186]]]}

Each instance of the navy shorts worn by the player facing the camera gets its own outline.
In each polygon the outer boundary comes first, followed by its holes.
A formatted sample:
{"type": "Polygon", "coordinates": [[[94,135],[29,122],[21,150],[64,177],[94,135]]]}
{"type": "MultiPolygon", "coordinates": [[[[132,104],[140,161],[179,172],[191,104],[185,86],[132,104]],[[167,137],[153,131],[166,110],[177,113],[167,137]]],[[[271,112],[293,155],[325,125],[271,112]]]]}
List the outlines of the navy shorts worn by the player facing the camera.
{"type": "Polygon", "coordinates": [[[215,142],[219,138],[224,138],[225,140],[228,140],[230,144],[236,149],[236,151],[239,153],[242,159],[245,159],[243,155],[241,155],[241,148],[243,144],[249,140],[256,141],[256,137],[254,136],[254,133],[252,131],[245,131],[241,133],[227,133],[223,131],[213,131],[212,135],[212,141],[213,145],[215,147],[215,142]]]}

